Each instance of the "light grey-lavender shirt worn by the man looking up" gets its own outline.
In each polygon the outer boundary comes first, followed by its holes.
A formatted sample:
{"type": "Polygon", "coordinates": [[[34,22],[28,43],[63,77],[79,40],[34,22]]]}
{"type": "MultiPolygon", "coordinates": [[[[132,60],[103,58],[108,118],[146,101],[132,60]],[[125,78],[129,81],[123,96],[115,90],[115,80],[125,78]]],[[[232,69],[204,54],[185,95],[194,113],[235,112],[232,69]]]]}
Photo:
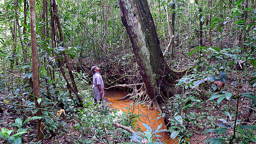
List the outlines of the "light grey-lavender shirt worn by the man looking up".
{"type": "Polygon", "coordinates": [[[95,99],[100,100],[104,97],[104,83],[103,83],[102,77],[98,72],[93,74],[92,90],[93,90],[93,95],[95,99]],[[98,85],[101,86],[101,89],[103,91],[102,97],[100,95],[100,89],[98,88],[98,85]]]}

